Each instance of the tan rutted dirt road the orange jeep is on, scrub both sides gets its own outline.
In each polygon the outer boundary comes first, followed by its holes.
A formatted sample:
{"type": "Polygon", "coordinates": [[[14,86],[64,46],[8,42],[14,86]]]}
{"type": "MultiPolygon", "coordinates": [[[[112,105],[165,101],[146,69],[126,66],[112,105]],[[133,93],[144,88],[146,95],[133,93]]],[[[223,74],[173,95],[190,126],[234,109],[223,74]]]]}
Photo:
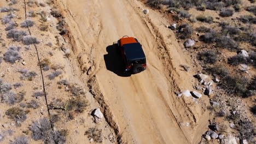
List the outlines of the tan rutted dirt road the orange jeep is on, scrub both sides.
{"type": "Polygon", "coordinates": [[[132,0],[56,3],[69,25],[75,55],[83,53],[89,61],[84,62],[90,64],[89,72],[81,77],[89,80],[95,75],[97,85],[92,89],[102,93],[101,99],[108,105],[121,141],[200,141],[205,131],[202,128],[207,124],[207,112],[191,98],[177,98],[174,94],[192,88],[193,70],[188,73],[179,67],[189,64],[190,60],[158,13],[150,11],[144,15],[142,3],[132,0]],[[141,41],[147,56],[146,71],[130,77],[120,76],[120,62],[112,44],[123,35],[141,41]],[[189,127],[182,126],[184,122],[189,123],[189,127]]]}

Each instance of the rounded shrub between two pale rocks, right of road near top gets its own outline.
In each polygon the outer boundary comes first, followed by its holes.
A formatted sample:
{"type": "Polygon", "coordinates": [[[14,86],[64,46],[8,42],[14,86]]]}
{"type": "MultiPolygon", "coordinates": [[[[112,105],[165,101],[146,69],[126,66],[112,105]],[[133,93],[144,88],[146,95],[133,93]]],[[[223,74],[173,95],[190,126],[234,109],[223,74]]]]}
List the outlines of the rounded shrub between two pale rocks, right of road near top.
{"type": "Polygon", "coordinates": [[[181,39],[187,39],[191,37],[191,34],[193,34],[193,28],[188,25],[187,23],[182,24],[178,28],[178,37],[181,39]]]}

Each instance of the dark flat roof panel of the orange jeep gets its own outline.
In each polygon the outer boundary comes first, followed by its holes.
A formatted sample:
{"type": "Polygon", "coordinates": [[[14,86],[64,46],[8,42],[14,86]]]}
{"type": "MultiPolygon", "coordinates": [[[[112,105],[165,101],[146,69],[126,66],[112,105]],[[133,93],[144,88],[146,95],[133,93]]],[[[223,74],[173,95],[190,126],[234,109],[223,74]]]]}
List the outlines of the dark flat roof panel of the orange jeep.
{"type": "Polygon", "coordinates": [[[146,58],[140,43],[125,44],[123,47],[128,61],[146,58]]]}

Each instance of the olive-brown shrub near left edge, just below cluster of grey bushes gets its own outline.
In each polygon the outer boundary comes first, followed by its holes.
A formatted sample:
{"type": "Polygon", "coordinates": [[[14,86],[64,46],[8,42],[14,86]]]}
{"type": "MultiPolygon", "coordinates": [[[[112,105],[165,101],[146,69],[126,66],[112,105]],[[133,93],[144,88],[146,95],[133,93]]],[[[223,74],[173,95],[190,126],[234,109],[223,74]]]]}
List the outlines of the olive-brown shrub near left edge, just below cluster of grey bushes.
{"type": "Polygon", "coordinates": [[[19,107],[11,107],[5,112],[8,118],[13,119],[16,122],[24,122],[27,119],[27,111],[20,109],[19,107]]]}

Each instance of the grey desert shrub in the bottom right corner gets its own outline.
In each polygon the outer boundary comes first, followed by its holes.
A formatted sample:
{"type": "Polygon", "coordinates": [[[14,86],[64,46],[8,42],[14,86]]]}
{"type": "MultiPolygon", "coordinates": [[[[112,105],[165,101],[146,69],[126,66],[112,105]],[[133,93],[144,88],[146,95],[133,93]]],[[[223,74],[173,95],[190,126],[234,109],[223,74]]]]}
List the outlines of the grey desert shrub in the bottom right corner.
{"type": "Polygon", "coordinates": [[[238,122],[238,128],[237,130],[240,133],[240,139],[241,140],[248,140],[253,141],[254,139],[254,125],[252,122],[245,120],[238,122]]]}

